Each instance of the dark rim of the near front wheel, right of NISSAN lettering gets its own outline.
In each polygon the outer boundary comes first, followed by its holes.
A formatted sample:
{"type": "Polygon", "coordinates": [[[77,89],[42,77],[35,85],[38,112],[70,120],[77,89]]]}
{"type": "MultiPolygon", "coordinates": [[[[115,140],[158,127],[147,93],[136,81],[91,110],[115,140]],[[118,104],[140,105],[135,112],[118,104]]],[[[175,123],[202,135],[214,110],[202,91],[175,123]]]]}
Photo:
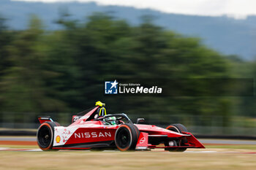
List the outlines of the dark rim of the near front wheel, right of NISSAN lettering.
{"type": "Polygon", "coordinates": [[[118,144],[118,147],[120,147],[121,149],[129,147],[131,142],[131,136],[127,128],[119,129],[119,131],[116,134],[116,142],[118,144]]]}

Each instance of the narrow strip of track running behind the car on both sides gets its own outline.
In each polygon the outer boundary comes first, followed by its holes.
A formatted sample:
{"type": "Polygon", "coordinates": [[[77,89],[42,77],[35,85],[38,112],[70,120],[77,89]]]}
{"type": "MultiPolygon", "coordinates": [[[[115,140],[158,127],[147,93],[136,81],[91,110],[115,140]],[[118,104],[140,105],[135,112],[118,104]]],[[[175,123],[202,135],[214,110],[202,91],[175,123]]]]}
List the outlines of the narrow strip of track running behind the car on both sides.
{"type": "MultiPolygon", "coordinates": [[[[238,139],[199,139],[203,144],[256,144],[256,140],[238,140],[238,139]]],[[[17,136],[0,136],[0,144],[7,143],[27,143],[36,144],[36,137],[17,137],[17,136]]]]}

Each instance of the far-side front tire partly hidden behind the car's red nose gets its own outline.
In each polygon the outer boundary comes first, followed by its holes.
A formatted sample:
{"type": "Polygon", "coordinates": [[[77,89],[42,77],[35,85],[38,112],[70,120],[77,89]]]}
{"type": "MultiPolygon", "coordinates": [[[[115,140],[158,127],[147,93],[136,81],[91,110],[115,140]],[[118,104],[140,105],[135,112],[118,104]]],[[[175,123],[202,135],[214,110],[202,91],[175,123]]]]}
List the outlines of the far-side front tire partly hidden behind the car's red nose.
{"type": "MultiPolygon", "coordinates": [[[[180,123],[169,125],[167,127],[167,129],[170,130],[170,131],[178,132],[180,134],[182,133],[182,131],[188,132],[187,128],[184,125],[180,124],[180,123]]],[[[185,143],[187,143],[187,139],[175,140],[173,142],[174,142],[173,146],[186,146],[185,143]]],[[[170,146],[169,145],[169,141],[165,142],[165,146],[170,146]]],[[[182,148],[165,148],[165,150],[169,150],[169,151],[172,151],[172,152],[184,152],[185,150],[187,150],[187,148],[186,147],[182,147],[182,148]]]]}

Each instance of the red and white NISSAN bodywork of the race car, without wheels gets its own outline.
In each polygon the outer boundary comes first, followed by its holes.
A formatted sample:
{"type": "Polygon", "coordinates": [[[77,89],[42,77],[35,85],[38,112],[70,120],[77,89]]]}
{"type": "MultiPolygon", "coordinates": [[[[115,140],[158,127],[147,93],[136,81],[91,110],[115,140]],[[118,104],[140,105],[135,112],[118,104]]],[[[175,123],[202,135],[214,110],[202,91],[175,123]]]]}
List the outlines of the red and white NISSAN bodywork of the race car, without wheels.
{"type": "MultiPolygon", "coordinates": [[[[97,147],[115,148],[115,134],[119,125],[105,125],[101,120],[95,120],[95,107],[71,125],[55,126],[53,149],[92,149],[97,147]]],[[[177,133],[156,125],[134,124],[140,131],[137,150],[165,148],[161,145],[166,139],[187,139],[186,148],[205,148],[195,136],[189,132],[177,133]],[[160,145],[159,145],[160,144],[160,145]]]]}

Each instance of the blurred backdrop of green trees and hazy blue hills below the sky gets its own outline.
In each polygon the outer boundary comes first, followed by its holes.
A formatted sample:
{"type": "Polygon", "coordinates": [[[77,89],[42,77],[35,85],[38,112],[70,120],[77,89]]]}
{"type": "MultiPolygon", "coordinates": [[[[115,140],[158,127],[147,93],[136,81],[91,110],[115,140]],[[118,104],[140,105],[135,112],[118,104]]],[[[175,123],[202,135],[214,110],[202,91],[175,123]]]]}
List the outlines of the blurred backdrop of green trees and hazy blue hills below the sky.
{"type": "Polygon", "coordinates": [[[255,15],[45,2],[0,1],[1,130],[38,128],[38,115],[69,125],[102,101],[108,112],[162,127],[256,136],[254,96],[104,96],[102,89],[118,79],[254,79],[255,15]]]}

